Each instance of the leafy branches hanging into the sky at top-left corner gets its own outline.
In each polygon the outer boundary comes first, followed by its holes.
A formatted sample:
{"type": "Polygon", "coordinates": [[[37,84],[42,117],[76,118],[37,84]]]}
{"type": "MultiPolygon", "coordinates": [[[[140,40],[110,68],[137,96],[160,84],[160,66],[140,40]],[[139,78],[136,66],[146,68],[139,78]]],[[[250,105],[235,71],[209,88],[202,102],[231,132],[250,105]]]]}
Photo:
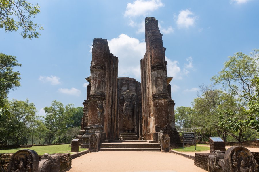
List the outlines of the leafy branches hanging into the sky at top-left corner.
{"type": "Polygon", "coordinates": [[[33,23],[32,18],[40,12],[38,4],[33,6],[25,0],[0,0],[0,28],[5,32],[22,29],[20,35],[25,38],[38,38],[37,30],[43,29],[37,23],[33,23]]]}

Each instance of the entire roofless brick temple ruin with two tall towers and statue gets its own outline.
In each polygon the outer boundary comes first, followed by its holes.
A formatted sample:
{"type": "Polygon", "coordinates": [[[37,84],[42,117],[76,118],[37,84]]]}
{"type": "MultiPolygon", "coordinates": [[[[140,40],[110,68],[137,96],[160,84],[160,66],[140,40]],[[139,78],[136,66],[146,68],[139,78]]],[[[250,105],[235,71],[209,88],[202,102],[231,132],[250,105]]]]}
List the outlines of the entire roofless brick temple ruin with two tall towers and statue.
{"type": "Polygon", "coordinates": [[[86,78],[87,99],[80,135],[84,145],[95,130],[106,140],[153,140],[163,130],[171,142],[179,143],[175,129],[174,100],[171,99],[165,50],[158,21],[145,19],[146,53],[141,59],[141,83],[133,78],[118,78],[118,57],[110,53],[106,39],[93,40],[91,76],[86,78]]]}

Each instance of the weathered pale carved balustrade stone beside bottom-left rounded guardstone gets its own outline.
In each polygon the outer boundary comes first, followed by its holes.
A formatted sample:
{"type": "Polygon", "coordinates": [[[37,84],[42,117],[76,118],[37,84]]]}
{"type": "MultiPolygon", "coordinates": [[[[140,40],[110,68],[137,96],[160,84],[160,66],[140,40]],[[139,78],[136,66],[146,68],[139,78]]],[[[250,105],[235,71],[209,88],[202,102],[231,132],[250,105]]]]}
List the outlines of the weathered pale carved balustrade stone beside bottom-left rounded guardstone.
{"type": "Polygon", "coordinates": [[[60,157],[56,154],[45,153],[39,161],[38,172],[59,172],[60,157]]]}

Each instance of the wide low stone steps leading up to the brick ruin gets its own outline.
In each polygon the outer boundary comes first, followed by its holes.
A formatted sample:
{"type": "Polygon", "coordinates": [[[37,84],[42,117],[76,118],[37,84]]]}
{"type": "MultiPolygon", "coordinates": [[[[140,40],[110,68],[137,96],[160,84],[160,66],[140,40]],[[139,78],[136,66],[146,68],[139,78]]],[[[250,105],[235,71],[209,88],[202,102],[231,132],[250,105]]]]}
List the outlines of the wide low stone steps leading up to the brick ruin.
{"type": "Polygon", "coordinates": [[[101,143],[100,151],[161,151],[159,143],[140,141],[114,141],[101,143]]]}

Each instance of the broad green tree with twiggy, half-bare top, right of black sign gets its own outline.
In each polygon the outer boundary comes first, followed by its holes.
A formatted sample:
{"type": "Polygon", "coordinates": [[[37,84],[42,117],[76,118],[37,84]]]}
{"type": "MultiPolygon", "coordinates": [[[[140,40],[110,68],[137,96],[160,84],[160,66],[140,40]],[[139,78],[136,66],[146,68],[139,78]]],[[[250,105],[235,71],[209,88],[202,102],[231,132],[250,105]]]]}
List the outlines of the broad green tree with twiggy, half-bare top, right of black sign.
{"type": "Polygon", "coordinates": [[[210,136],[217,134],[226,141],[225,133],[228,132],[228,128],[218,126],[220,117],[218,112],[238,108],[235,99],[230,94],[215,89],[213,85],[201,85],[200,90],[201,95],[198,94],[198,98],[193,100],[193,125],[202,127],[205,130],[203,133],[210,136]]]}

